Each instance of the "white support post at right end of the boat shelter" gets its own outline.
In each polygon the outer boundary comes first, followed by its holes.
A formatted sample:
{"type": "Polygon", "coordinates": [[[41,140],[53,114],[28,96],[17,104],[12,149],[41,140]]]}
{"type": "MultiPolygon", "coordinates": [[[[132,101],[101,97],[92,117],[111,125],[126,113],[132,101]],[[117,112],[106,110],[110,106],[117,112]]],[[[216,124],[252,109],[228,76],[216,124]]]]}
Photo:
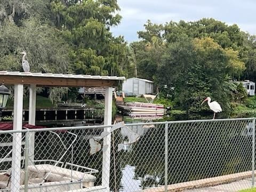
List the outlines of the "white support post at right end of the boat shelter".
{"type": "MultiPolygon", "coordinates": [[[[105,92],[105,112],[104,112],[104,125],[111,125],[112,123],[112,87],[107,87],[105,92]]],[[[104,131],[110,132],[111,127],[107,127],[104,131]]],[[[107,187],[109,191],[110,180],[110,148],[111,148],[111,134],[103,139],[103,146],[107,149],[103,152],[102,159],[102,186],[107,187]]]]}

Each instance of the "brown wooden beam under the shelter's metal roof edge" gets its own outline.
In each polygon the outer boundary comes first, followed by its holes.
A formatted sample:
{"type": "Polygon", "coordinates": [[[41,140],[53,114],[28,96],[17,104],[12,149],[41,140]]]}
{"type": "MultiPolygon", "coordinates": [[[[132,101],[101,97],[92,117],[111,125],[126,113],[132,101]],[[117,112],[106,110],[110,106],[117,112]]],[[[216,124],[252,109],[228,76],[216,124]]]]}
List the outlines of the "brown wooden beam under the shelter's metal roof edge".
{"type": "Polygon", "coordinates": [[[15,76],[0,75],[0,82],[5,84],[35,84],[37,86],[69,86],[69,87],[102,87],[117,86],[117,80],[107,79],[84,79],[84,78],[66,78],[66,77],[35,77],[35,76],[15,76]]]}

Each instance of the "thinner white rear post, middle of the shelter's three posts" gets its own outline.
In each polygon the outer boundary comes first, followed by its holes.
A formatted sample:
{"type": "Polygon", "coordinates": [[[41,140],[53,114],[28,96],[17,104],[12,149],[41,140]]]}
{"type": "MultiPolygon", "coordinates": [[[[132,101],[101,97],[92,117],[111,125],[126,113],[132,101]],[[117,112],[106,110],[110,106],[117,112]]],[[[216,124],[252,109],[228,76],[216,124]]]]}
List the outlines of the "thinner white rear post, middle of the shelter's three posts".
{"type": "MultiPolygon", "coordinates": [[[[36,122],[36,85],[29,86],[29,116],[28,124],[35,125],[36,122]]],[[[34,161],[35,132],[29,133],[29,158],[34,161]]]]}

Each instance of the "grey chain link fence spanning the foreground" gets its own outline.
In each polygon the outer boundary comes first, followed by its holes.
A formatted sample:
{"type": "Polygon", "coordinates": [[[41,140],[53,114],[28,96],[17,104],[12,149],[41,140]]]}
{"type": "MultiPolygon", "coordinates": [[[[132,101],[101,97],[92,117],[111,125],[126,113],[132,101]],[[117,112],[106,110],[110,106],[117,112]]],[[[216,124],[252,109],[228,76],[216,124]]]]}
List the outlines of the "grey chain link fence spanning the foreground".
{"type": "Polygon", "coordinates": [[[0,191],[239,191],[255,119],[0,131],[0,191]]]}

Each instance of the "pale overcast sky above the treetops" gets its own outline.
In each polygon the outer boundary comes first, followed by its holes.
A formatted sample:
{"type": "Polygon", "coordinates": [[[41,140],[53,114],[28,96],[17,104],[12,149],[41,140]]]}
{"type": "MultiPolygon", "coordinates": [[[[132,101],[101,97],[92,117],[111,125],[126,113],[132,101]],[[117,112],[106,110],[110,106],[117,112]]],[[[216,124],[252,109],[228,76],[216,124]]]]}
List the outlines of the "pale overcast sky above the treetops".
{"type": "Polygon", "coordinates": [[[236,23],[242,30],[256,34],[255,0],[117,0],[123,19],[111,31],[123,35],[126,41],[138,40],[137,31],[143,30],[148,19],[154,23],[171,20],[195,21],[214,18],[228,25],[236,23]]]}

